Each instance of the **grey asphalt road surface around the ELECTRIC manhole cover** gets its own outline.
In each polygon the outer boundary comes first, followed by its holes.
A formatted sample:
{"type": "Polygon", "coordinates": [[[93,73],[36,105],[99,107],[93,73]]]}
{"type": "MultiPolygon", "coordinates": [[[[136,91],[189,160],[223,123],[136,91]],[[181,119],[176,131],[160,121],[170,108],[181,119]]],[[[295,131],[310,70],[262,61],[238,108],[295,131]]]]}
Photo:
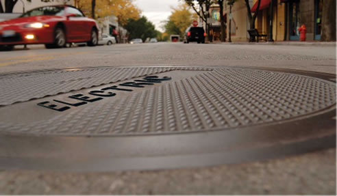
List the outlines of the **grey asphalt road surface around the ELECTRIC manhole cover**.
{"type": "MultiPolygon", "coordinates": [[[[336,72],[334,46],[119,44],[0,52],[0,72],[138,65],[290,68],[336,72]]],[[[336,195],[336,149],[236,165],[162,171],[0,171],[0,194],[336,195]]]]}

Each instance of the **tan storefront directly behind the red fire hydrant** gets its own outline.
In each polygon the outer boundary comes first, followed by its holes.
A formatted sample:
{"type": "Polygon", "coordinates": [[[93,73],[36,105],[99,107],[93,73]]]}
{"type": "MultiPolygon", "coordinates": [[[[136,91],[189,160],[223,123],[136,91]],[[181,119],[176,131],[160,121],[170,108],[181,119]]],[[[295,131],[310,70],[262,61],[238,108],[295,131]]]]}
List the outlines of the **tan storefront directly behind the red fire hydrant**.
{"type": "MultiPolygon", "coordinates": [[[[320,40],[324,0],[273,0],[273,40],[299,40],[299,27],[305,25],[306,40],[320,40]]],[[[253,2],[251,12],[257,9],[253,2]]],[[[271,0],[261,0],[255,28],[270,34],[271,0]]]]}

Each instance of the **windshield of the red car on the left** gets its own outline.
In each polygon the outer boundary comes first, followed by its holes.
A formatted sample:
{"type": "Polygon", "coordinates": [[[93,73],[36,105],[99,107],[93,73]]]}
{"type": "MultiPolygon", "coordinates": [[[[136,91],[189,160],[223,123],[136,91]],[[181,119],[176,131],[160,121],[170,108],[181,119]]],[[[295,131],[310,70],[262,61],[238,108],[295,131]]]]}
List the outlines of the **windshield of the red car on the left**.
{"type": "Polygon", "coordinates": [[[36,8],[34,10],[30,10],[20,17],[28,17],[28,16],[63,16],[64,7],[62,6],[48,6],[36,8]]]}

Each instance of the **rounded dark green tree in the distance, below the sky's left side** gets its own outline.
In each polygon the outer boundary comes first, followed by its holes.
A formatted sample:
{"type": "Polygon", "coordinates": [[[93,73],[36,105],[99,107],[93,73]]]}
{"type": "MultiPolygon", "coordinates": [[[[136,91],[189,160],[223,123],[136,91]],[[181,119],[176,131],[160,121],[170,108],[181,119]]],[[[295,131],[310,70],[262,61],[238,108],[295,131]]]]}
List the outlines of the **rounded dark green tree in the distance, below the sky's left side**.
{"type": "Polygon", "coordinates": [[[137,20],[129,18],[124,27],[129,32],[129,40],[141,38],[144,42],[147,38],[157,38],[158,35],[155,26],[145,16],[137,20]]]}

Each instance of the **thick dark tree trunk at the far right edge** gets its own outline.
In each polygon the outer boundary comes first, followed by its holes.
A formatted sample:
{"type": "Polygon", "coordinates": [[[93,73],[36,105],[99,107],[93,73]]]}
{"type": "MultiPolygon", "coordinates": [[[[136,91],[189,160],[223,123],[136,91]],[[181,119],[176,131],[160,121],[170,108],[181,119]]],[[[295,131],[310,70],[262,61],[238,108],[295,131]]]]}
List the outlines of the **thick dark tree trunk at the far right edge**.
{"type": "Polygon", "coordinates": [[[336,42],[336,0],[323,1],[321,41],[336,42]]]}

